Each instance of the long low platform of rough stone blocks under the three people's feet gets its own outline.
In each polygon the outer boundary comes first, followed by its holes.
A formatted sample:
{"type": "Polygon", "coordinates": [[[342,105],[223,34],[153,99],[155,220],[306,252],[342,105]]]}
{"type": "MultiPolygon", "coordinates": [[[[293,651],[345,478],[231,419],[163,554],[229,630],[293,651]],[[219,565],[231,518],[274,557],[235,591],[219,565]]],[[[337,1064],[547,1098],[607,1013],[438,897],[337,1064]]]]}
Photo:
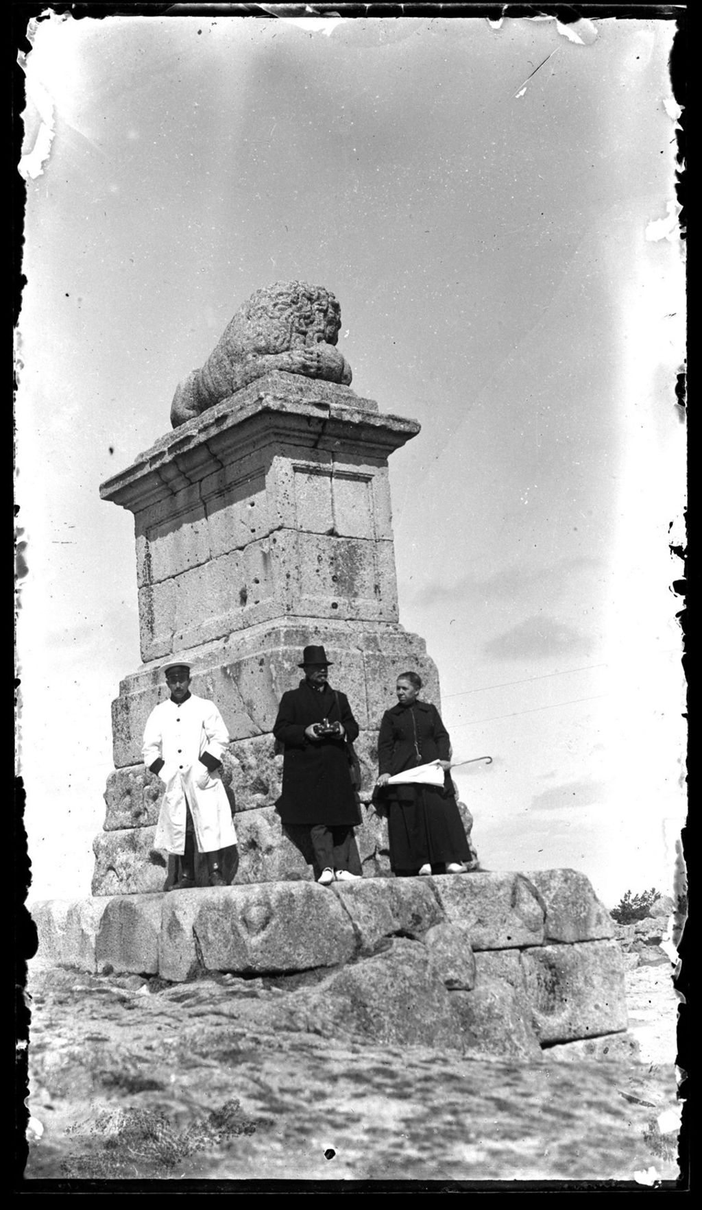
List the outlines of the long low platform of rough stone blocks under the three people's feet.
{"type": "Polygon", "coordinates": [[[31,915],[38,967],[294,976],[283,1030],[522,1060],[574,1043],[571,1058],[635,1051],[614,922],[574,870],[105,895],[31,915]]]}

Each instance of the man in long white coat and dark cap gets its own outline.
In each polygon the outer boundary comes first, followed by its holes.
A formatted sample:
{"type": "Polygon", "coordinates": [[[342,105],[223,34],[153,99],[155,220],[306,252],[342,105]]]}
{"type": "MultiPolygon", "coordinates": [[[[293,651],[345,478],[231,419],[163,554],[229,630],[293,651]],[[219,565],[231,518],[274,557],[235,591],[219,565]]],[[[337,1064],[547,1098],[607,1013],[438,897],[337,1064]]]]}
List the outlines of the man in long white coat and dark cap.
{"type": "Polygon", "coordinates": [[[195,851],[207,854],[209,885],[225,885],[220,851],[236,845],[226,791],[218,776],[229,732],[214,702],[190,692],[190,666],[163,669],[171,692],[144,728],[144,765],[166,786],[154,848],[177,854],[174,889],[195,886],[195,851]]]}

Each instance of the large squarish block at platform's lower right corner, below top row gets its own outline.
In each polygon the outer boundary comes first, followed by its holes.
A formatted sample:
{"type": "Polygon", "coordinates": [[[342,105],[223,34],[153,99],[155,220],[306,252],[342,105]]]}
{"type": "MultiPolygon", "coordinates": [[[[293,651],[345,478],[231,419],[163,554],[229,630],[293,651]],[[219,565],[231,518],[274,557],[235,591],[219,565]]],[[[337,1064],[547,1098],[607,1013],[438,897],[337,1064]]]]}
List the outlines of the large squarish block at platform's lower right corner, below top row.
{"type": "Polygon", "coordinates": [[[528,949],[522,964],[540,1042],[626,1030],[625,969],[616,941],[528,949]]]}

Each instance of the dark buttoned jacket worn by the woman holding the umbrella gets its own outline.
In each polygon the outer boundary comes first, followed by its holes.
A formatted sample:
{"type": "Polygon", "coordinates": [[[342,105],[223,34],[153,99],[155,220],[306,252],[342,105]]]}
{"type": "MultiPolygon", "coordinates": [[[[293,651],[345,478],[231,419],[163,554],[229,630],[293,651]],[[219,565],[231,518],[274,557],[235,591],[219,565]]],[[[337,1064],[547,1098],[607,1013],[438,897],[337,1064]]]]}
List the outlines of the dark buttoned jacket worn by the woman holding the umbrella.
{"type": "MultiPolygon", "coordinates": [[[[441,715],[431,702],[413,702],[412,705],[393,705],[386,710],[378,736],[379,773],[402,773],[432,760],[450,760],[450,739],[441,715]],[[420,755],[416,754],[415,741],[420,755]]],[[[453,794],[449,773],[444,777],[444,789],[453,794]]],[[[381,799],[413,799],[412,785],[389,785],[380,791],[381,799]]]]}

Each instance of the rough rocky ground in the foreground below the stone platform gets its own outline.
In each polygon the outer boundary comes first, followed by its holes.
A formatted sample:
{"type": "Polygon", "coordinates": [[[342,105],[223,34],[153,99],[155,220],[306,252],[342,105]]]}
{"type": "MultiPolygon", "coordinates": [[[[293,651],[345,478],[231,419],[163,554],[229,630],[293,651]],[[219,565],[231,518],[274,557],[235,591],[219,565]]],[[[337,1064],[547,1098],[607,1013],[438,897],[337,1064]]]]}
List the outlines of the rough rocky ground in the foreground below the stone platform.
{"type": "Polygon", "coordinates": [[[671,970],[627,974],[638,1064],[329,1041],[295,1025],[289,976],[30,973],[25,1176],[671,1181],[671,970]]]}

